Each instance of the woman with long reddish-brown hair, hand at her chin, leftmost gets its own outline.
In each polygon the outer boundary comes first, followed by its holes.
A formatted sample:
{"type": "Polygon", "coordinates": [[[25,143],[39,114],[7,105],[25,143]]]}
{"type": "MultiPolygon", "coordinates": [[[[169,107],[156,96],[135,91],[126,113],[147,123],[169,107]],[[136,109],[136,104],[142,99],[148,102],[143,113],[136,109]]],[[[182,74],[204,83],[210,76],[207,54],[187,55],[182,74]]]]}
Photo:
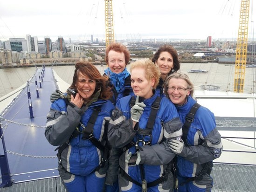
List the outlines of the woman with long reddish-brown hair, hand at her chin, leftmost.
{"type": "Polygon", "coordinates": [[[108,153],[96,147],[84,133],[88,130],[93,111],[97,110],[90,133],[97,143],[106,147],[106,125],[114,109],[109,100],[112,93],[107,82],[108,77],[102,76],[91,63],[76,63],[70,86],[76,90],[76,96],[59,98],[52,103],[47,115],[45,137],[50,144],[60,145],[60,149],[63,149],[59,151],[58,171],[69,192],[102,192],[104,188],[108,168],[105,155],[108,153]],[[102,161],[103,158],[106,161],[102,161]]]}

